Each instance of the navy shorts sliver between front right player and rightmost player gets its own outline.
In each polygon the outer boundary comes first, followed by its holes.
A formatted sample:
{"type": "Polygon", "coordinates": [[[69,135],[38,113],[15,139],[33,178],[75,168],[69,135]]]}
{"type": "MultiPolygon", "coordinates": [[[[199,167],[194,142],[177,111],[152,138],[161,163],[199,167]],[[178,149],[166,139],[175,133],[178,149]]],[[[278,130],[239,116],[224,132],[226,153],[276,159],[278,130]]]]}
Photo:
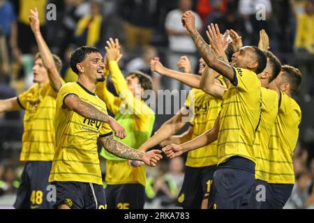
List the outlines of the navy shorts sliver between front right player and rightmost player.
{"type": "Polygon", "coordinates": [[[250,203],[248,203],[248,208],[260,209],[262,203],[266,201],[266,194],[267,181],[256,179],[250,203]]]}

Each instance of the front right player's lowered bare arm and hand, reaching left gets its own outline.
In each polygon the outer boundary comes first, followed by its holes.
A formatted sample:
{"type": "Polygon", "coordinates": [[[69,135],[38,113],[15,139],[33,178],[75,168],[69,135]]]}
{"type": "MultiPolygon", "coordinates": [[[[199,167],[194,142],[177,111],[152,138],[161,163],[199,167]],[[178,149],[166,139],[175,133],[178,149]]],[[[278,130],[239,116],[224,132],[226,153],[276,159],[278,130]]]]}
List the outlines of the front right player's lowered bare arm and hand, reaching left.
{"type": "Polygon", "coordinates": [[[174,157],[178,157],[179,155],[186,153],[188,151],[193,151],[197,148],[201,148],[208,144],[213,143],[218,139],[218,132],[219,132],[219,117],[216,118],[214,123],[214,127],[204,132],[199,137],[187,141],[184,144],[177,145],[177,144],[170,144],[163,148],[163,152],[167,155],[168,158],[173,159],[174,157]]]}

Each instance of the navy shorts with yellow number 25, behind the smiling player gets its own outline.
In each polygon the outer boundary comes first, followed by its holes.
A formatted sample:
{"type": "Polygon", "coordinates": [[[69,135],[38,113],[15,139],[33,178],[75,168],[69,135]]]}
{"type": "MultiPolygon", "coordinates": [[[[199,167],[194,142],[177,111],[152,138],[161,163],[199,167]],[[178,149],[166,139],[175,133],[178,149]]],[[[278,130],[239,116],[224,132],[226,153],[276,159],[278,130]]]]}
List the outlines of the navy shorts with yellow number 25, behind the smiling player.
{"type": "Polygon", "coordinates": [[[108,209],[143,209],[145,187],[140,183],[107,185],[105,188],[108,209]]]}

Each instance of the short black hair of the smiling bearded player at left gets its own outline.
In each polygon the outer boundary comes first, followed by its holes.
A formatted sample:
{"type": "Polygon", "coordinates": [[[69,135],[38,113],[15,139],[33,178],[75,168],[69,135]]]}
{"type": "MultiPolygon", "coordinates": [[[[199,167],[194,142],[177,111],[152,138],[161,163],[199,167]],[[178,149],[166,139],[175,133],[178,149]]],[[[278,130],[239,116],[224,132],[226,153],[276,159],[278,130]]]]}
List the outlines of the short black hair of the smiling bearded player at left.
{"type": "Polygon", "coordinates": [[[87,55],[91,53],[100,53],[100,51],[96,47],[88,46],[82,46],[75,49],[75,51],[71,54],[70,57],[70,66],[73,72],[75,72],[78,75],[79,71],[76,68],[77,63],[81,63],[82,61],[84,61],[84,59],[87,58],[87,55]]]}

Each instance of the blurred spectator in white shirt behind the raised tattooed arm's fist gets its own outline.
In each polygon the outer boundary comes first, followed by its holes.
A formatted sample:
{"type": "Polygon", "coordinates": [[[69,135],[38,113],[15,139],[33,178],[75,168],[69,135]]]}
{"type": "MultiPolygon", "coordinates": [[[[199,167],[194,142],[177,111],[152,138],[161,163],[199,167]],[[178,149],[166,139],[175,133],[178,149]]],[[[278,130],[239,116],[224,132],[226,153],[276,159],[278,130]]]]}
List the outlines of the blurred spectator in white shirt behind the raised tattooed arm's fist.
{"type": "MultiPolygon", "coordinates": [[[[191,0],[179,0],[179,8],[171,10],[165,20],[165,29],[167,31],[169,39],[169,49],[170,52],[167,55],[167,67],[171,70],[177,70],[177,61],[183,55],[188,55],[190,59],[190,64],[192,69],[195,69],[197,63],[196,47],[193,43],[193,40],[190,38],[190,34],[182,26],[181,17],[183,13],[187,10],[191,10],[192,1],[191,0]]],[[[202,29],[202,20],[200,16],[193,12],[195,15],[195,27],[197,31],[202,29]]],[[[181,83],[174,79],[169,79],[167,82],[169,86],[167,89],[182,89],[181,83]]],[[[187,86],[184,86],[185,89],[188,89],[187,86]]]]}

